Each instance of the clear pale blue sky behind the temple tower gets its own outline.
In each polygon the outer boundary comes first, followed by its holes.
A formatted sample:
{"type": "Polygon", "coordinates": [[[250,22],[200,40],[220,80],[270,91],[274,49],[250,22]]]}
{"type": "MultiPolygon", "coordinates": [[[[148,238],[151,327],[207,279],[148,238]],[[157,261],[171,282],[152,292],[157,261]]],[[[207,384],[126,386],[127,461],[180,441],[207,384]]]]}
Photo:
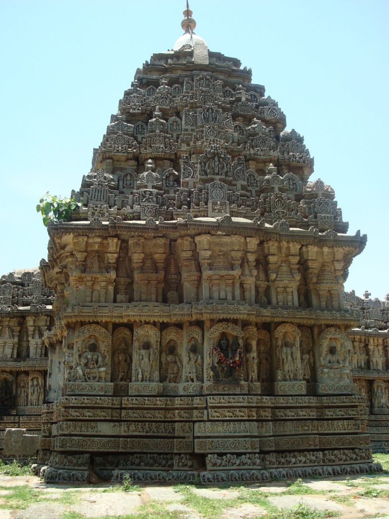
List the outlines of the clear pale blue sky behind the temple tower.
{"type": "MultiPolygon", "coordinates": [[[[182,34],[184,0],[0,0],[0,274],[47,254],[35,211],[90,169],[137,67],[182,34]]],[[[346,290],[389,292],[387,0],[191,0],[213,51],[252,67],[305,136],[311,177],[334,187],[350,231],[368,235],[346,290]]]]}

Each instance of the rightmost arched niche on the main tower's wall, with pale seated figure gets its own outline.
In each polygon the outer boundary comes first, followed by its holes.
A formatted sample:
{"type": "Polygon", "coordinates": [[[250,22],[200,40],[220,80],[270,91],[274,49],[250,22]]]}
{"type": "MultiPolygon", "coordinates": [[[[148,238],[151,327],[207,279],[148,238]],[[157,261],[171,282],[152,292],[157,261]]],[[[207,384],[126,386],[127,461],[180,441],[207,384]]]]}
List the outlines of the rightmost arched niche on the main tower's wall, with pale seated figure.
{"type": "Polygon", "coordinates": [[[350,370],[352,349],[350,337],[338,328],[327,328],[319,337],[318,382],[349,383],[352,380],[350,370]]]}

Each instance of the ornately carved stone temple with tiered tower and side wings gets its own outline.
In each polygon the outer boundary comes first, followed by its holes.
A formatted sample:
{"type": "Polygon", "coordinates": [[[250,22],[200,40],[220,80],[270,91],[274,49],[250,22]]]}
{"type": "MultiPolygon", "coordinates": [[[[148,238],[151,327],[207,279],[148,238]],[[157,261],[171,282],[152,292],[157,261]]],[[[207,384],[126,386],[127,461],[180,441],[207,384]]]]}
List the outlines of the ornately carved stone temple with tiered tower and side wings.
{"type": "Polygon", "coordinates": [[[389,301],[343,291],[366,236],[195,26],[136,70],[48,260],[0,280],[4,457],[24,429],[47,482],[376,470],[389,301]]]}

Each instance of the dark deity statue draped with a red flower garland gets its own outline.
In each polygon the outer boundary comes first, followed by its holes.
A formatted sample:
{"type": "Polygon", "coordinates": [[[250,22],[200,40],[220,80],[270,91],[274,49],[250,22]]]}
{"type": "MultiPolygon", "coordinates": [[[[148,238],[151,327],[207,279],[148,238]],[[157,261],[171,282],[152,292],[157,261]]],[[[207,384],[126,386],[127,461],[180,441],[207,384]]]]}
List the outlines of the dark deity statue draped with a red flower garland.
{"type": "Polygon", "coordinates": [[[242,347],[237,337],[230,340],[225,333],[212,349],[211,371],[215,380],[240,380],[243,361],[242,347]]]}

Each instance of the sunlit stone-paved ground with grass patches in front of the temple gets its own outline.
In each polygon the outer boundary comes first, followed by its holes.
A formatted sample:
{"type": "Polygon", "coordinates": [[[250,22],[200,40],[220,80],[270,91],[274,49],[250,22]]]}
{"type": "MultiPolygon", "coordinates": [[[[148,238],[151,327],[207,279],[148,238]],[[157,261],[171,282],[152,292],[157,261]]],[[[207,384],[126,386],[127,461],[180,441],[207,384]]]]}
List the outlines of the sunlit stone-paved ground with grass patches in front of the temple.
{"type": "Polygon", "coordinates": [[[0,475],[0,519],[274,519],[299,503],[313,509],[309,519],[323,512],[328,518],[389,519],[389,474],[234,487],[135,486],[128,492],[0,475]]]}

